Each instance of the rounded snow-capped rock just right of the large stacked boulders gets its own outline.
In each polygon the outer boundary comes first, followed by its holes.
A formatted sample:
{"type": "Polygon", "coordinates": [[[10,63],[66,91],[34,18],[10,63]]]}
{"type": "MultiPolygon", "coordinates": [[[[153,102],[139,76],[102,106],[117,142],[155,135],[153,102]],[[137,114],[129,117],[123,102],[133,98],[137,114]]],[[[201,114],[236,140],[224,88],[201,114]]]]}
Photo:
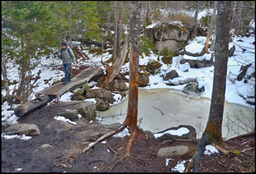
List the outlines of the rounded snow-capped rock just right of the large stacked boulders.
{"type": "Polygon", "coordinates": [[[204,55],[206,53],[205,47],[202,44],[189,44],[184,48],[185,55],[191,55],[194,57],[204,55]],[[196,49],[195,49],[196,48],[196,49]]]}

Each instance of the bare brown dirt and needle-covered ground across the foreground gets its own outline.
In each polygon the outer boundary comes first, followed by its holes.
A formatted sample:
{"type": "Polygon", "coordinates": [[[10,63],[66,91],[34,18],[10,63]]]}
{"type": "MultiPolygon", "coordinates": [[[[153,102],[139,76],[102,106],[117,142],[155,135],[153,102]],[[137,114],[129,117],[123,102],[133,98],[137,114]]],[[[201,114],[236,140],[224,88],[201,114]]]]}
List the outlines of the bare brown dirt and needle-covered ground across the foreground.
{"type": "MultiPolygon", "coordinates": [[[[130,156],[115,165],[125,154],[130,136],[109,137],[106,143],[100,142],[83,154],[81,149],[86,145],[81,140],[78,142],[74,139],[72,134],[64,132],[55,136],[55,131],[44,129],[52,122],[50,117],[55,115],[53,112],[57,112],[56,107],[48,107],[46,110],[44,115],[39,114],[45,112],[43,107],[19,119],[20,123],[37,124],[41,131],[40,136],[32,137],[28,141],[18,138],[7,140],[2,137],[2,172],[177,172],[184,171],[191,154],[166,159],[157,157],[158,150],[177,145],[196,147],[195,142],[160,142],[151,136],[139,136],[131,146],[130,156]],[[50,143],[55,149],[37,154],[42,142],[50,143]],[[78,153],[69,156],[71,151],[78,153]],[[64,160],[62,154],[67,154],[69,159],[64,160]]],[[[205,154],[201,159],[201,172],[255,171],[255,135],[236,137],[225,143],[224,149],[232,152],[236,150],[238,153],[205,154]]]]}

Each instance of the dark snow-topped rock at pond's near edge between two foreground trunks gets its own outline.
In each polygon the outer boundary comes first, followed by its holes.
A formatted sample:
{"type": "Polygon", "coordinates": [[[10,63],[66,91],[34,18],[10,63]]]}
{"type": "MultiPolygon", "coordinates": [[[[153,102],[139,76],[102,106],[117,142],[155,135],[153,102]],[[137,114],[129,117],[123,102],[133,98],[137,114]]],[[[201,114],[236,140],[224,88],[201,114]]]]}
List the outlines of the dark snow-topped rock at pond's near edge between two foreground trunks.
{"type": "Polygon", "coordinates": [[[171,130],[178,130],[180,128],[187,128],[189,130],[189,133],[187,134],[183,134],[182,136],[174,136],[174,135],[171,135],[171,134],[164,134],[160,137],[157,137],[158,140],[160,141],[168,141],[168,140],[172,140],[172,139],[192,139],[192,140],[195,140],[196,139],[196,131],[195,131],[195,128],[191,125],[179,125],[177,127],[171,127],[171,128],[168,128],[166,129],[165,131],[160,131],[160,132],[157,132],[157,134],[159,133],[164,133],[166,131],[171,131],[171,130]]]}

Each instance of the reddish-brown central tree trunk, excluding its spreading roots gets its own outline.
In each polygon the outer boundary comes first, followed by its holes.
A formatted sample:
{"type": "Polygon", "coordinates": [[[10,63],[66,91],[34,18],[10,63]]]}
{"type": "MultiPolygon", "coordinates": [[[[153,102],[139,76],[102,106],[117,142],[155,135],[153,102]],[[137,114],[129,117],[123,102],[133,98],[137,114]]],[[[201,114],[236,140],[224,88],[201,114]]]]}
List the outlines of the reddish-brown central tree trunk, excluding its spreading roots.
{"type": "Polygon", "coordinates": [[[133,132],[137,130],[137,99],[138,99],[138,56],[140,43],[140,13],[142,3],[131,1],[130,5],[130,72],[129,97],[125,125],[133,132]]]}

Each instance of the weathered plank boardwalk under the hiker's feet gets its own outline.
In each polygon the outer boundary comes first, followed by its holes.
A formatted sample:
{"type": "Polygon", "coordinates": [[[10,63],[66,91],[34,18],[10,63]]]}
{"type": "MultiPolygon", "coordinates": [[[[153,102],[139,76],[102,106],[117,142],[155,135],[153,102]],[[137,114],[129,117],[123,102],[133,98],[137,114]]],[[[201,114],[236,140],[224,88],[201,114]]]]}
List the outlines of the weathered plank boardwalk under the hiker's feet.
{"type": "Polygon", "coordinates": [[[102,68],[89,67],[76,75],[74,78],[72,78],[71,82],[67,84],[62,84],[63,82],[59,82],[57,84],[49,86],[48,88],[45,88],[44,90],[38,91],[37,95],[55,96],[58,98],[59,101],[59,97],[66,93],[68,90],[78,87],[79,85],[88,82],[90,78],[98,76],[102,73],[102,68]]]}

